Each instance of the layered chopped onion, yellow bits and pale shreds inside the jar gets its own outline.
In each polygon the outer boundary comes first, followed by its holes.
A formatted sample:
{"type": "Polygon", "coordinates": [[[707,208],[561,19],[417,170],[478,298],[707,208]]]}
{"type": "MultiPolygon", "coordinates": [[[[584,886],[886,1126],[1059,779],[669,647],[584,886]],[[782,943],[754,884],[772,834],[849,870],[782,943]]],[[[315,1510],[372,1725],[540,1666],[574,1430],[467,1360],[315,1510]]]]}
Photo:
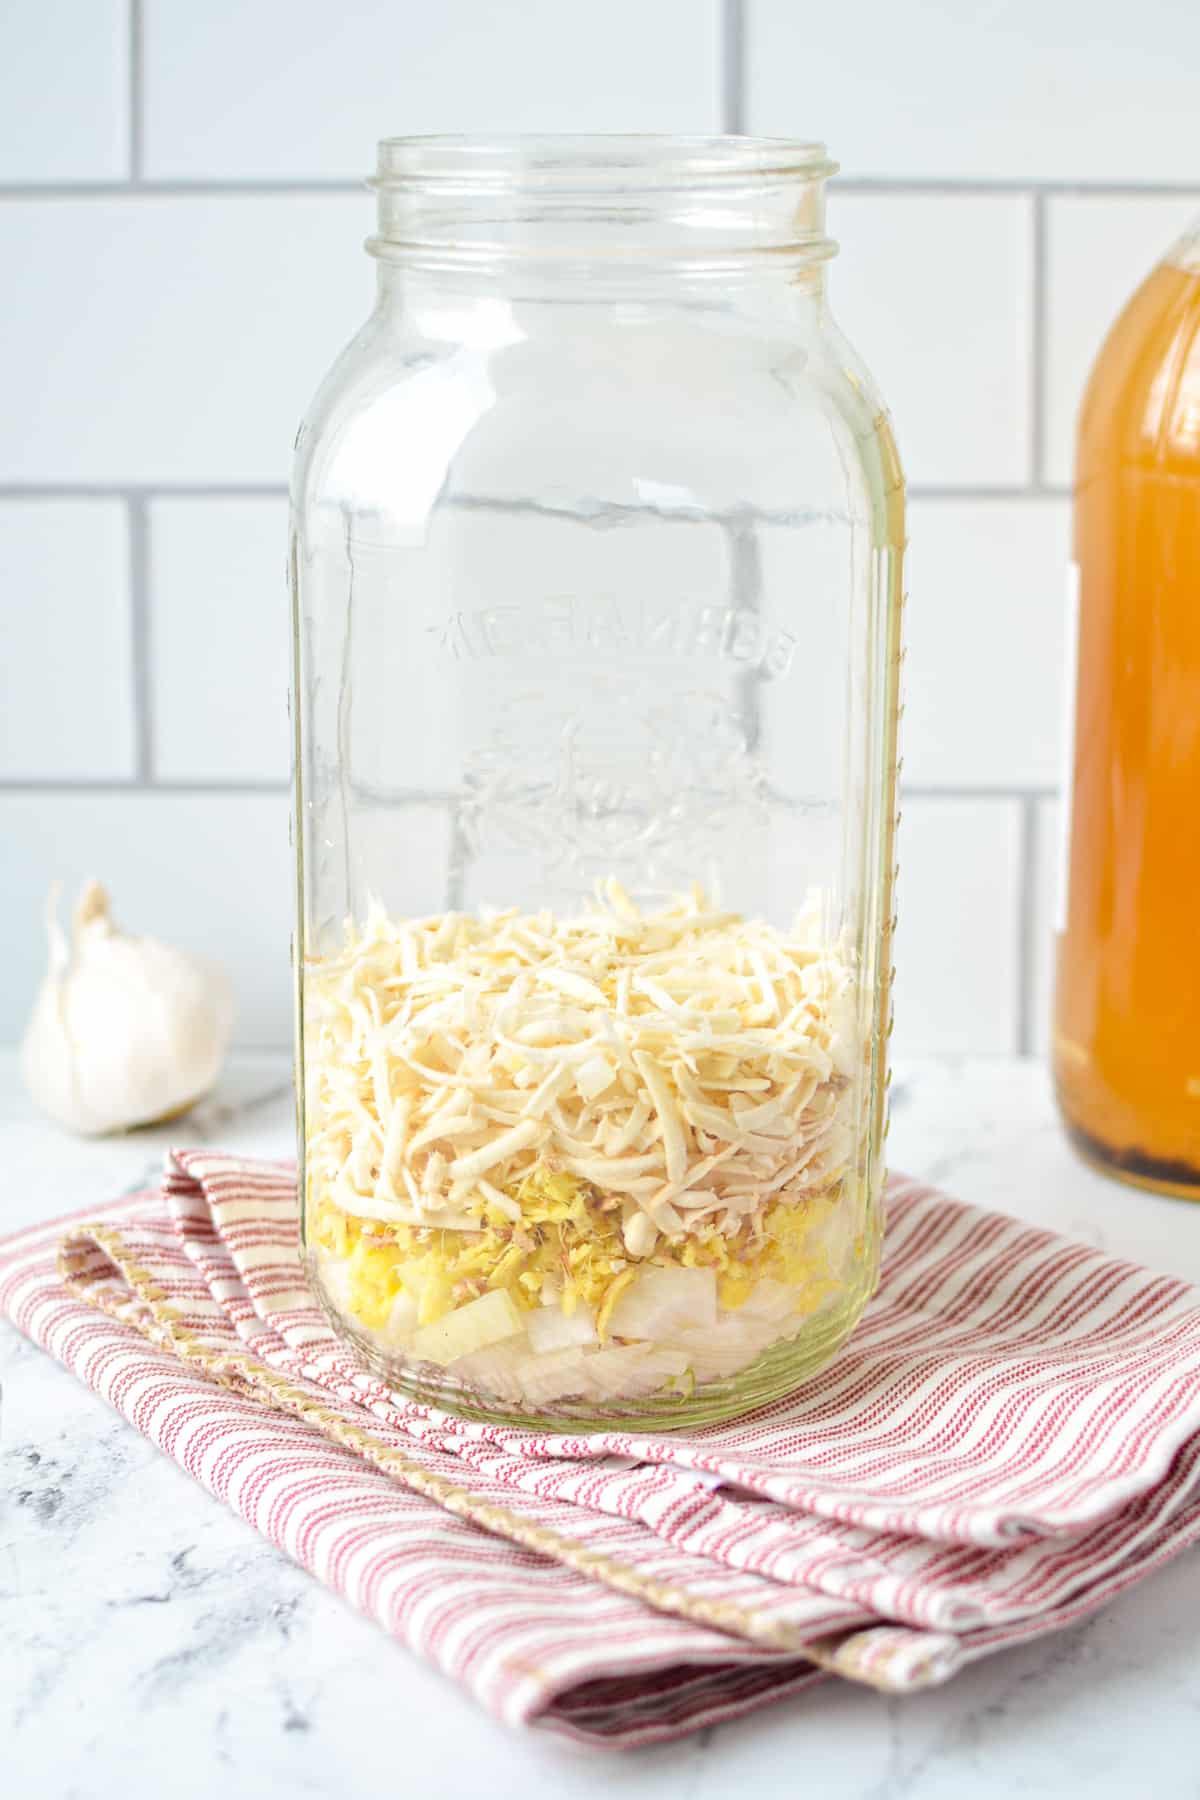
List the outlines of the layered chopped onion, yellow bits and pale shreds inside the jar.
{"type": "Polygon", "coordinates": [[[389,1354],[504,1400],[732,1373],[858,1253],[856,988],[700,889],[389,920],[306,970],[309,1238],[389,1354]]]}

